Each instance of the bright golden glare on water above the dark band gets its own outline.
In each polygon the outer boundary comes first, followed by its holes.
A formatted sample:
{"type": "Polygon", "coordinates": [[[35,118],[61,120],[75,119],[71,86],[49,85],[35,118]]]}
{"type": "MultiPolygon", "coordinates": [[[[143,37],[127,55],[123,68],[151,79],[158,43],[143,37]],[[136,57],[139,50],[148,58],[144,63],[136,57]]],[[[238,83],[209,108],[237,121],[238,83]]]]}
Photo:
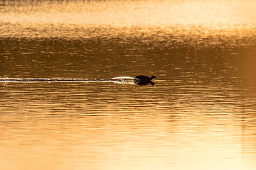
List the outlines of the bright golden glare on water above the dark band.
{"type": "Polygon", "coordinates": [[[152,34],[152,29],[207,36],[255,33],[253,0],[8,2],[0,7],[1,36],[87,38],[152,34]]]}

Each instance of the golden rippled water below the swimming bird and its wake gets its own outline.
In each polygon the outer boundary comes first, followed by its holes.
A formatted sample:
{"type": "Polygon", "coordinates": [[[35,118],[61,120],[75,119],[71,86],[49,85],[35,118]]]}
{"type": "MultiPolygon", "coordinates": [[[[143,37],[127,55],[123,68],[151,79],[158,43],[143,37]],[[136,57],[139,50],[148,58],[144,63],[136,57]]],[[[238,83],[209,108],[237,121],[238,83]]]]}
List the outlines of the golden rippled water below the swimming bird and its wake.
{"type": "Polygon", "coordinates": [[[200,100],[199,92],[183,91],[186,98],[171,94],[174,102],[155,98],[162,88],[132,95],[119,85],[105,86],[100,94],[99,84],[73,84],[75,93],[65,86],[7,86],[13,92],[6,89],[9,99],[1,101],[1,168],[255,168],[255,118],[253,111],[246,115],[244,107],[235,106],[242,103],[239,98],[212,89],[203,95],[212,96],[209,101],[200,100]]]}

